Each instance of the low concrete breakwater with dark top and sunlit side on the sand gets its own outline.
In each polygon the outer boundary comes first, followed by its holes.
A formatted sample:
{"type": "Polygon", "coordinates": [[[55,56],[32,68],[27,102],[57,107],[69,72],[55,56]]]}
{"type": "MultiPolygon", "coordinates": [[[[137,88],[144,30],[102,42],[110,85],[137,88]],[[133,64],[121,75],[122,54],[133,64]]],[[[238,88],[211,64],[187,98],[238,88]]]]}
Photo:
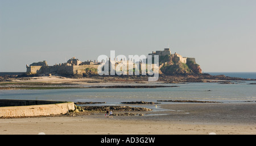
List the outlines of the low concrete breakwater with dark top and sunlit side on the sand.
{"type": "Polygon", "coordinates": [[[73,102],[0,99],[0,118],[66,114],[73,102]]]}

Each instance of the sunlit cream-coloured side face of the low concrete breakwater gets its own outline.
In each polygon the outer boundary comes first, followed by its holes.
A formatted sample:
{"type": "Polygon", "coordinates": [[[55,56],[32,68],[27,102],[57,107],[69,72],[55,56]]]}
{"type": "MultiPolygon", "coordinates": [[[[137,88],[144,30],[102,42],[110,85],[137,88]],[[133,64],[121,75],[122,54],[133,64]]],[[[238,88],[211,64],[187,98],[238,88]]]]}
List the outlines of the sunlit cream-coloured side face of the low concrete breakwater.
{"type": "Polygon", "coordinates": [[[0,117],[57,115],[66,114],[69,110],[75,110],[75,105],[73,102],[51,102],[48,105],[5,106],[0,107],[0,117]]]}

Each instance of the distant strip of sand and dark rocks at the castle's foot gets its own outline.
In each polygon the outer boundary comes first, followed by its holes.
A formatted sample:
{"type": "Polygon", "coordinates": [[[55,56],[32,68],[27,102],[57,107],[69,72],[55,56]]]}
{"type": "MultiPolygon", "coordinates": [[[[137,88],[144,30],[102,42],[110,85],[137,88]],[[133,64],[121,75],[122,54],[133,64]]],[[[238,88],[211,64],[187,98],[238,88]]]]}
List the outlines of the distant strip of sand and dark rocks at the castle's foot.
{"type": "Polygon", "coordinates": [[[183,84],[185,82],[217,82],[218,84],[237,84],[237,82],[255,81],[256,79],[246,79],[237,77],[227,77],[224,75],[211,76],[210,74],[194,75],[164,75],[159,76],[156,82],[148,82],[147,76],[0,76],[0,90],[19,89],[83,89],[83,88],[152,88],[152,87],[177,87],[160,84],[183,84]]]}

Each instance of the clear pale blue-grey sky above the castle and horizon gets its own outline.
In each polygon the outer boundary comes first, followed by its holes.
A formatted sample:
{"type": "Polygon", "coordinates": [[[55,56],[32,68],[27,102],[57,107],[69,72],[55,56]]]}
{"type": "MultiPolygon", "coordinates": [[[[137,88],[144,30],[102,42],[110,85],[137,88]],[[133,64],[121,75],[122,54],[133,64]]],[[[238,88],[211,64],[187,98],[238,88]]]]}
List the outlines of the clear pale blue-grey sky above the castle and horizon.
{"type": "Polygon", "coordinates": [[[203,72],[256,72],[255,15],[255,0],[0,0],[0,72],[168,46],[203,72]]]}

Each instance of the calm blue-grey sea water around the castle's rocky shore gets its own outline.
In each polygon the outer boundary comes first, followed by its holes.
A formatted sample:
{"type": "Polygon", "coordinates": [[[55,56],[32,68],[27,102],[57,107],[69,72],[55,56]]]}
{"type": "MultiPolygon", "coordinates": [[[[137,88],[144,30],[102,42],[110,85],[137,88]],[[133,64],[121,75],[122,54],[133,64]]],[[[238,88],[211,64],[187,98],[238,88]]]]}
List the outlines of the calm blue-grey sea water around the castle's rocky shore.
{"type": "MultiPolygon", "coordinates": [[[[0,73],[0,75],[5,73],[0,73]]],[[[12,73],[13,75],[15,73],[12,73]]],[[[230,77],[255,78],[256,73],[209,73],[230,77]]],[[[119,105],[120,102],[158,100],[198,100],[224,103],[251,103],[256,101],[256,81],[232,81],[233,84],[216,82],[185,82],[180,84],[159,84],[178,87],[137,89],[51,89],[51,90],[0,90],[0,99],[30,99],[70,102],[106,102],[105,105],[119,105]],[[251,84],[255,83],[255,84],[251,84]]],[[[162,102],[163,103],[163,102],[162,102]]],[[[166,103],[166,102],[164,102],[166,103]]],[[[172,103],[172,102],[168,102],[172,103]]],[[[175,104],[179,104],[176,103],[175,104]]],[[[104,104],[100,104],[104,105],[104,104]]]]}

